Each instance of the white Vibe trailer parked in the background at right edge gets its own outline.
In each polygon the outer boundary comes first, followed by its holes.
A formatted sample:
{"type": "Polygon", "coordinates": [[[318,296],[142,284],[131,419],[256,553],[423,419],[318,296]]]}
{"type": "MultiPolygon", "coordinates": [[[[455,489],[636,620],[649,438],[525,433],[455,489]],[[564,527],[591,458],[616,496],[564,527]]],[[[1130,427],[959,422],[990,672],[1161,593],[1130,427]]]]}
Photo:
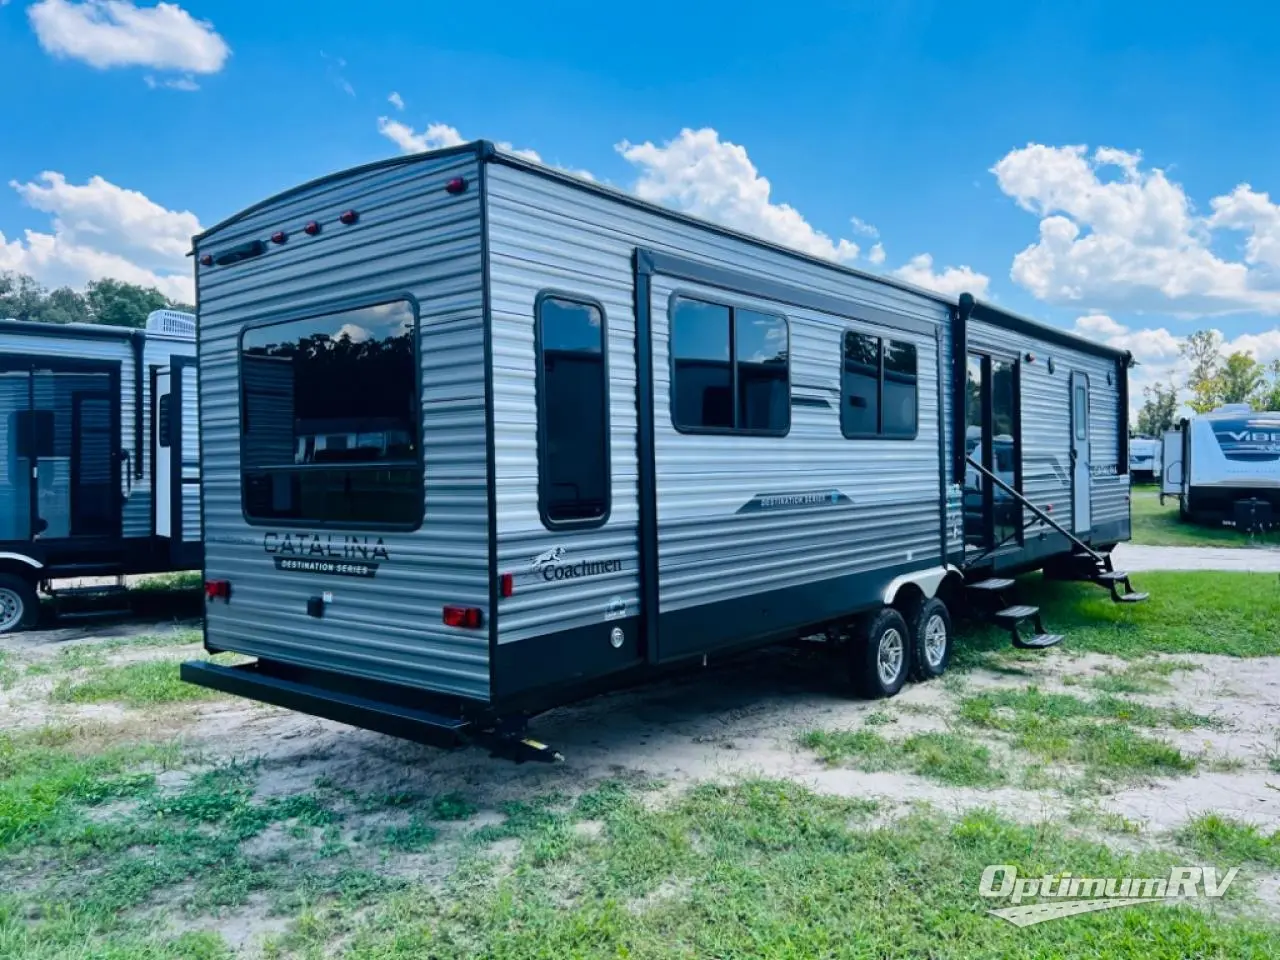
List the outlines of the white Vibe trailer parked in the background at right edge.
{"type": "Polygon", "coordinates": [[[1219,407],[1164,438],[1161,499],[1184,518],[1267,530],[1280,522],[1280,413],[1219,407]]]}

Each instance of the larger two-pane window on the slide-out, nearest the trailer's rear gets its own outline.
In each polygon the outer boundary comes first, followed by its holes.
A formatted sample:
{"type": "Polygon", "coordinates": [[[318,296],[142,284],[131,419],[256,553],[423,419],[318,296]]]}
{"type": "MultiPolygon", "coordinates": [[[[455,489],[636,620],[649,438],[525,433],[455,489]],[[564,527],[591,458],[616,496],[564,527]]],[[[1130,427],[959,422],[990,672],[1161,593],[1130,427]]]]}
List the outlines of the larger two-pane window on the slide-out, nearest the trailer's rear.
{"type": "Polygon", "coordinates": [[[671,420],[686,433],[791,429],[786,317],[675,297],[671,420]]]}

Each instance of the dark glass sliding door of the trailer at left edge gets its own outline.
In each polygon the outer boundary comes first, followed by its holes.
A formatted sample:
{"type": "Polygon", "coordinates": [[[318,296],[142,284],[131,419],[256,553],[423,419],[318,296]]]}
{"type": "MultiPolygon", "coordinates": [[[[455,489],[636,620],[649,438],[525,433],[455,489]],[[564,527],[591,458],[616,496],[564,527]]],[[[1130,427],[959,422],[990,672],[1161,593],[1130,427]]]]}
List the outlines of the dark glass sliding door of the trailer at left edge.
{"type": "Polygon", "coordinates": [[[0,358],[0,539],[120,535],[119,365],[0,358]]]}

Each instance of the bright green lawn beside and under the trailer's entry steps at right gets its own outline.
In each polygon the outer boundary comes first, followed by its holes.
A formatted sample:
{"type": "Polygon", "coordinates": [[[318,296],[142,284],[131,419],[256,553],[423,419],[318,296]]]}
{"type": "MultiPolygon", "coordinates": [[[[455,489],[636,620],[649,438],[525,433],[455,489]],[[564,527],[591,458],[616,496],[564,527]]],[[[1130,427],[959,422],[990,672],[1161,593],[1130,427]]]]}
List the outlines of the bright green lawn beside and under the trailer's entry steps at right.
{"type": "MultiPolygon", "coordinates": [[[[1151,594],[1146,603],[1112,603],[1093,584],[1029,575],[1019,580],[1018,602],[1039,607],[1044,626],[1064,634],[1071,650],[1129,658],[1149,653],[1280,655],[1280,577],[1275,573],[1149,572],[1134,573],[1133,582],[1151,594]]],[[[954,663],[982,666],[988,652],[1006,659],[1020,655],[1010,650],[1007,632],[970,623],[954,663]]]]}

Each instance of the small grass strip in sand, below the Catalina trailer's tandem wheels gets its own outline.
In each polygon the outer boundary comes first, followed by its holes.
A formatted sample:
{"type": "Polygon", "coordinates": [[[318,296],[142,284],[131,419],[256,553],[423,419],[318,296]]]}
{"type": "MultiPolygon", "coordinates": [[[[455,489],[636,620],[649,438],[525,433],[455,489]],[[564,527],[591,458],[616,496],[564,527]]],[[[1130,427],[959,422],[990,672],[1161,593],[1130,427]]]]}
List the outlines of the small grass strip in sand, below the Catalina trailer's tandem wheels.
{"type": "Polygon", "coordinates": [[[803,735],[800,742],[831,765],[906,771],[964,787],[993,787],[1006,781],[987,746],[957,733],[913,733],[890,741],[870,730],[814,730],[803,735]]]}

